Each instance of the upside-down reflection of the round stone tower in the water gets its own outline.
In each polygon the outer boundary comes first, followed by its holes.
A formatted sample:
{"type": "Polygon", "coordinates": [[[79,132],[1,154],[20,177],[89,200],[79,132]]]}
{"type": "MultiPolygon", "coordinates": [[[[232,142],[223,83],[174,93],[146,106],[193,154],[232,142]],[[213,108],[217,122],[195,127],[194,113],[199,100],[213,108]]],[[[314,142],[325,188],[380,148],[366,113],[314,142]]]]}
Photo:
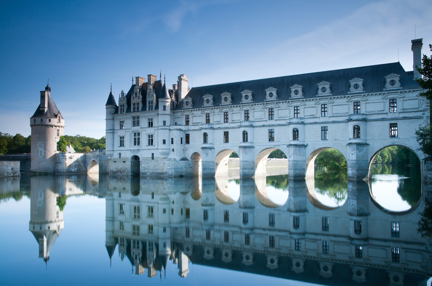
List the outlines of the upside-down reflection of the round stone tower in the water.
{"type": "Polygon", "coordinates": [[[39,257],[47,262],[55,240],[64,227],[63,210],[57,205],[52,177],[30,179],[30,222],[29,230],[39,243],[39,257]],[[48,179],[48,180],[47,180],[48,179]]]}

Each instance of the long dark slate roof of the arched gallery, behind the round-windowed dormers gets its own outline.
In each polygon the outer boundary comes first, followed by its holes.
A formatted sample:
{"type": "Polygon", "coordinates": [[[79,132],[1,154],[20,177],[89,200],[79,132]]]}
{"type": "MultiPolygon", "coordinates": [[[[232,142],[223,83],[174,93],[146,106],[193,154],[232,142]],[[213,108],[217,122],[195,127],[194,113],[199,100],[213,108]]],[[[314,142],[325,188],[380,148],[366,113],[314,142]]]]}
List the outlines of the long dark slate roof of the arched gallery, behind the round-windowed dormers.
{"type": "MultiPolygon", "coordinates": [[[[251,90],[254,103],[264,102],[266,98],[265,89],[274,87],[277,89],[278,100],[288,100],[291,96],[291,86],[299,84],[302,86],[304,98],[314,98],[318,93],[318,83],[330,82],[330,90],[333,96],[348,94],[349,81],[353,78],[362,78],[365,93],[382,92],[385,85],[385,76],[395,73],[400,75],[400,84],[404,89],[420,88],[405,72],[399,62],[382,65],[369,65],[358,68],[345,68],[327,72],[313,72],[302,75],[288,75],[278,78],[264,78],[252,81],[239,81],[228,84],[216,84],[204,87],[193,87],[187,96],[192,98],[194,108],[203,107],[203,96],[207,93],[213,95],[213,106],[221,106],[220,94],[231,93],[232,104],[241,104],[241,92],[251,90]]],[[[409,73],[409,72],[408,72],[409,73]]],[[[325,96],[320,96],[325,97],[325,96]]],[[[183,102],[176,109],[181,109],[183,102]]]]}

